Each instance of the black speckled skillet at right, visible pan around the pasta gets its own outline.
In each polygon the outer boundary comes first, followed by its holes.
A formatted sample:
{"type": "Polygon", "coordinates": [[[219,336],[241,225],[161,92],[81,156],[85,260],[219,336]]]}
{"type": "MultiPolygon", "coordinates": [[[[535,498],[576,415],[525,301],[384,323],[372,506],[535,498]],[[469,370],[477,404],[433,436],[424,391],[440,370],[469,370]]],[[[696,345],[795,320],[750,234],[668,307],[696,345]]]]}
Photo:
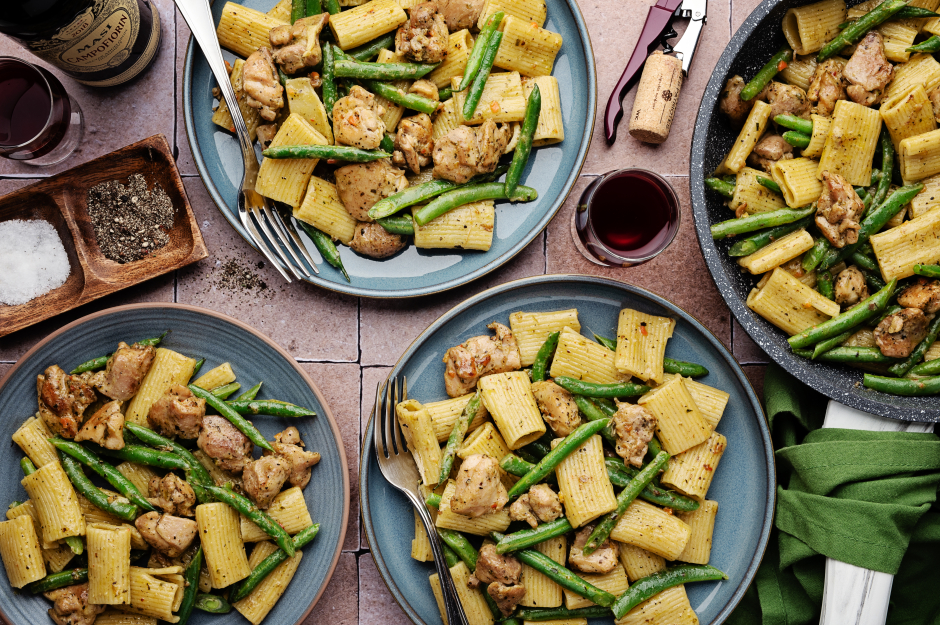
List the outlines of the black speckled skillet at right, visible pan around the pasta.
{"type": "MultiPolygon", "coordinates": [[[[757,282],[728,256],[733,241],[713,241],[709,226],[729,219],[731,212],[721,198],[705,189],[704,179],[721,163],[737,132],[718,110],[718,96],[725,81],[735,74],[749,80],[776,50],[786,43],[780,23],[788,9],[807,0],[764,0],[731,37],[712,73],[695,121],[690,155],[692,211],[695,230],[708,270],[718,290],[744,330],[774,362],[820,393],[852,408],[905,421],[940,421],[940,397],[898,397],[864,388],[862,372],[847,366],[813,362],[795,356],[784,332],[745,304],[757,282]]],[[[849,5],[858,2],[849,1],[849,5]]]]}

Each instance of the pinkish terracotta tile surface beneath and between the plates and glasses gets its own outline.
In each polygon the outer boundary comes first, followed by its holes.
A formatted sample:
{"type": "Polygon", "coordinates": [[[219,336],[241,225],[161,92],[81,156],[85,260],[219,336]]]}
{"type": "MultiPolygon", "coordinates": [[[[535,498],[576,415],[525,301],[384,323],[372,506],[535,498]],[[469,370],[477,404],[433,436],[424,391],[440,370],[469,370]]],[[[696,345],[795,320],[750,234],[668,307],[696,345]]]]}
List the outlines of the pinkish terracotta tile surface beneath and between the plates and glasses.
{"type": "MultiPolygon", "coordinates": [[[[647,8],[655,0],[582,0],[597,61],[598,114],[603,113],[610,89],[620,76],[639,34],[647,8]]],[[[183,57],[189,29],[173,9],[172,0],[156,0],[163,18],[163,42],[156,64],[130,88],[94,90],[63,82],[79,100],[86,115],[87,135],[81,152],[59,168],[42,172],[0,160],[0,195],[29,184],[38,175],[56,173],[154,133],[174,144],[186,190],[196,211],[209,258],[129,291],[84,306],[32,328],[0,339],[0,377],[36,341],[80,316],[110,306],[139,301],[185,302],[236,316],[283,345],[318,381],[344,437],[350,482],[358,483],[358,456],[364,424],[369,418],[373,389],[401,352],[441,313],[484,288],[543,273],[589,273],[650,289],[698,317],[732,348],[760,390],[766,357],[735,323],[712,285],[692,230],[688,191],[688,155],[692,125],[705,83],[719,55],[757,0],[712,0],[691,76],[683,86],[669,140],[647,146],[620,133],[608,147],[602,124],[595,124],[591,150],[582,179],[572,197],[545,233],[519,256],[483,280],[439,296],[416,300],[365,300],[337,296],[309,285],[282,284],[219,216],[196,175],[180,104],[183,57]],[[590,180],[611,169],[641,166],[669,176],[682,202],[682,226],[672,247],[656,261],[632,269],[606,269],[585,261],[575,250],[569,222],[574,202],[590,180]],[[262,279],[260,293],[236,291],[219,284],[223,266],[235,263],[262,279]],[[680,272],[674,271],[681,269],[680,272]],[[681,278],[677,278],[681,275],[681,278]],[[394,327],[394,332],[388,329],[394,327]],[[358,414],[357,414],[358,412],[358,414]]],[[[681,28],[680,28],[681,30],[681,28]]],[[[0,55],[22,56],[9,40],[0,38],[0,55]]],[[[633,94],[624,100],[632,107],[633,94]]],[[[353,488],[344,553],[323,599],[307,623],[330,622],[394,625],[407,619],[388,595],[361,534],[358,488],[353,488]]]]}

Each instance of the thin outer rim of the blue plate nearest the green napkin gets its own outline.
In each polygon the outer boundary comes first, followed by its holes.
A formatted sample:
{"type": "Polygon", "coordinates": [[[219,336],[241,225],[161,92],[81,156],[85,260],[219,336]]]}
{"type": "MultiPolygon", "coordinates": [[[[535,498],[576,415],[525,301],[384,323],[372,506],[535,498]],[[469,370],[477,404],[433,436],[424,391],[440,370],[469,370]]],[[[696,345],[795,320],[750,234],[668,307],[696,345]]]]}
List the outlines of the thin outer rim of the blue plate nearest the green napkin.
{"type": "MultiPolygon", "coordinates": [[[[506,291],[512,291],[517,288],[527,287],[533,284],[551,284],[554,282],[581,282],[586,284],[596,284],[603,285],[618,289],[623,289],[632,295],[639,296],[643,299],[647,299],[655,304],[658,304],[668,310],[673,311],[682,317],[685,321],[688,321],[695,327],[700,333],[716,348],[719,354],[724,358],[728,363],[731,369],[734,371],[735,376],[738,381],[741,383],[742,387],[745,390],[745,393],[748,399],[751,402],[751,407],[755,409],[755,413],[758,420],[758,429],[761,432],[761,443],[764,448],[764,459],[766,466],[769,467],[767,475],[767,492],[768,492],[768,501],[767,505],[764,508],[764,521],[763,526],[761,527],[760,536],[758,539],[757,551],[751,557],[751,561],[748,564],[747,570],[744,573],[741,581],[739,582],[737,588],[735,588],[734,593],[731,596],[731,600],[725,605],[725,607],[718,613],[715,619],[709,625],[721,625],[734,611],[734,609],[741,602],[741,599],[744,598],[744,593],[750,587],[751,583],[754,581],[754,577],[757,574],[757,569],[760,568],[761,563],[763,562],[764,556],[767,552],[767,546],[770,541],[770,532],[773,529],[774,517],[776,514],[776,499],[777,499],[777,468],[776,468],[776,458],[774,456],[773,442],[771,440],[770,428],[767,424],[767,416],[764,412],[764,408],[760,403],[760,400],[757,397],[757,393],[754,390],[753,384],[744,374],[744,371],[741,369],[741,365],[731,354],[730,350],[721,342],[721,340],[715,336],[715,334],[709,330],[699,319],[692,313],[686,311],[684,308],[678,304],[674,304],[667,300],[666,298],[657,295],[651,291],[648,291],[642,287],[629,284],[626,282],[621,282],[619,280],[614,280],[611,278],[604,278],[600,276],[592,276],[586,274],[543,274],[538,276],[529,276],[526,278],[519,278],[516,280],[511,280],[503,284],[491,287],[476,295],[473,295],[466,300],[458,303],[440,317],[438,317],[434,322],[432,322],[421,334],[415,338],[414,341],[408,346],[408,348],[402,353],[398,361],[389,369],[388,375],[385,377],[385,382],[387,383],[389,377],[396,371],[400,370],[404,364],[406,357],[410,357],[412,353],[424,343],[427,337],[442,328],[448,322],[450,322],[454,317],[464,312],[465,310],[471,308],[472,306],[488,300],[496,295],[500,295],[506,291]]],[[[384,384],[383,383],[383,384],[384,384]]],[[[385,583],[385,586],[388,588],[389,593],[392,595],[392,598],[395,599],[395,602],[398,603],[402,611],[411,619],[416,625],[429,625],[426,621],[421,619],[418,616],[417,612],[411,607],[411,605],[405,600],[404,595],[398,589],[398,585],[395,583],[392,578],[392,574],[388,569],[385,559],[381,555],[381,551],[376,549],[373,545],[377,544],[375,542],[374,529],[372,527],[372,513],[369,506],[369,484],[365,480],[366,471],[365,464],[371,458],[372,453],[372,441],[369,436],[373,425],[373,419],[375,417],[374,409],[370,411],[369,420],[366,422],[366,426],[363,430],[362,441],[360,445],[360,455],[359,455],[359,514],[362,520],[363,529],[365,530],[366,542],[369,546],[369,553],[372,555],[373,561],[375,562],[376,570],[379,572],[379,576],[382,578],[382,581],[385,583]],[[367,516],[368,513],[368,516],[367,516]]]]}

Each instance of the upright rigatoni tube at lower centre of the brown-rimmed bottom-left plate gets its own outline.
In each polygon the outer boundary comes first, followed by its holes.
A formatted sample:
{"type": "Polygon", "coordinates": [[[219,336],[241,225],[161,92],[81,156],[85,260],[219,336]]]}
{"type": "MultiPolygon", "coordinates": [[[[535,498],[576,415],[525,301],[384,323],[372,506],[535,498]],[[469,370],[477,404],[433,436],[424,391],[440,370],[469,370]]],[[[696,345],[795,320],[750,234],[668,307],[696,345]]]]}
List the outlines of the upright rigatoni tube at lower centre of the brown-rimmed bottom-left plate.
{"type": "Polygon", "coordinates": [[[200,504],[196,523],[213,588],[225,588],[251,574],[238,512],[221,502],[200,504]]]}

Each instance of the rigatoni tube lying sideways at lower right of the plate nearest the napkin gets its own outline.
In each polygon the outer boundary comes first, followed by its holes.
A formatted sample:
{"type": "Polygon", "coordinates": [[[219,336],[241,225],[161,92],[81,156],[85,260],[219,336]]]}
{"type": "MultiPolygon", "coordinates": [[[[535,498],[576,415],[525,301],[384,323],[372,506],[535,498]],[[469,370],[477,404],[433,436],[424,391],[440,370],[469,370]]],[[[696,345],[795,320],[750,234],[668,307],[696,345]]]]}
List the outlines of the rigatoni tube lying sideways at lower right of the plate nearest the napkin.
{"type": "Polygon", "coordinates": [[[689,542],[691,529],[662,508],[636,499],[623,513],[610,537],[675,560],[689,542]]]}

